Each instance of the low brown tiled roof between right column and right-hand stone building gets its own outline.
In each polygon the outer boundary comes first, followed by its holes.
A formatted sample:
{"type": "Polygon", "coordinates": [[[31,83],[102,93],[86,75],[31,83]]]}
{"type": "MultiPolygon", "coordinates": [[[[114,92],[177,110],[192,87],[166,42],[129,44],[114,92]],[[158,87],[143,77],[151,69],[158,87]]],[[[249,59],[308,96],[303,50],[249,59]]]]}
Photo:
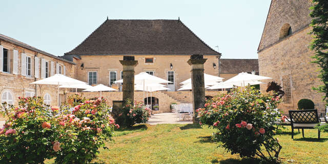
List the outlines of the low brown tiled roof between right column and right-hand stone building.
{"type": "Polygon", "coordinates": [[[220,74],[236,74],[240,72],[258,72],[258,59],[220,59],[220,74]]]}

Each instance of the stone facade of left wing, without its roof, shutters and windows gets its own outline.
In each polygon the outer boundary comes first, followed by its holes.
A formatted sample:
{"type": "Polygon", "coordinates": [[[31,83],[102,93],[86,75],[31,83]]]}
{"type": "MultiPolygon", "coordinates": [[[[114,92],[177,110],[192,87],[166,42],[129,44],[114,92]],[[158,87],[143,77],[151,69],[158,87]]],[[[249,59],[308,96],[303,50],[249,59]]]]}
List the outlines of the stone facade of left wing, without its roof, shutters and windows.
{"type": "MultiPolygon", "coordinates": [[[[12,39],[12,38],[11,38],[12,39]]],[[[16,41],[15,41],[16,42],[16,41]]],[[[45,85],[30,85],[30,83],[42,79],[41,77],[41,67],[42,67],[42,59],[49,61],[49,75],[51,75],[51,71],[53,69],[54,73],[56,73],[56,64],[62,66],[63,69],[61,74],[66,74],[66,76],[74,77],[76,67],[70,61],[65,59],[58,59],[58,57],[53,57],[42,53],[42,51],[37,50],[35,48],[26,47],[23,43],[17,41],[18,44],[15,42],[7,41],[5,39],[0,38],[0,45],[9,51],[9,71],[4,72],[3,70],[0,71],[0,99],[8,97],[8,92],[12,97],[13,105],[18,105],[18,98],[17,97],[26,97],[29,95],[36,95],[44,97],[45,94],[50,95],[50,105],[57,104],[57,89],[55,86],[45,86],[45,85]],[[14,60],[14,53],[13,51],[17,50],[17,60],[14,60]],[[31,58],[31,75],[22,75],[22,53],[26,54],[26,56],[31,58]],[[35,59],[38,58],[37,66],[38,69],[35,69],[35,59]],[[51,68],[50,64],[51,61],[54,63],[54,67],[51,68]],[[17,62],[17,73],[13,70],[13,63],[17,62]],[[65,66],[65,67],[64,67],[65,66]],[[64,68],[66,69],[64,71],[64,68]],[[38,75],[38,77],[37,77],[38,75]],[[6,94],[6,95],[4,95],[6,94]]],[[[3,62],[3,61],[2,61],[3,62]]],[[[64,90],[61,89],[60,91],[61,101],[64,102],[64,90]]]]}

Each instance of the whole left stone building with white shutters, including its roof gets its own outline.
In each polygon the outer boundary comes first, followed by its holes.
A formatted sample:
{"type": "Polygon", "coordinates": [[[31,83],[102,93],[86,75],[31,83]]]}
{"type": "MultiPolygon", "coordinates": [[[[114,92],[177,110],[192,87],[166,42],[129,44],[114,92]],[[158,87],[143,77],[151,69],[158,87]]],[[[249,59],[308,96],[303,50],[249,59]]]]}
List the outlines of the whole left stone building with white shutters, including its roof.
{"type": "MultiPolygon", "coordinates": [[[[75,64],[0,34],[0,100],[18,105],[17,97],[41,96],[49,105],[57,104],[55,86],[30,85],[55,73],[74,77],[75,64]]],[[[64,101],[63,91],[60,101],[64,101]]]]}

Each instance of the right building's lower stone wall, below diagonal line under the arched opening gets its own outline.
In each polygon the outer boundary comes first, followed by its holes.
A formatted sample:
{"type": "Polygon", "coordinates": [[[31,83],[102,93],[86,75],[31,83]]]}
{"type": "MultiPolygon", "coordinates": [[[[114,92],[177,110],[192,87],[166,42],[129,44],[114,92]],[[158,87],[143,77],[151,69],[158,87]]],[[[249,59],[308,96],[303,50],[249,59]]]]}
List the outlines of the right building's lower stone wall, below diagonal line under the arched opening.
{"type": "MultiPolygon", "coordinates": [[[[325,112],[323,94],[312,89],[322,83],[317,77],[318,66],[311,63],[314,53],[309,50],[312,40],[308,34],[310,31],[308,27],[258,53],[260,75],[273,77],[286,92],[280,106],[285,113],[297,109],[297,103],[302,98],[313,100],[319,115],[325,112]]],[[[269,81],[263,80],[266,83],[269,81]]],[[[261,85],[262,92],[266,89],[266,85],[261,85]]]]}

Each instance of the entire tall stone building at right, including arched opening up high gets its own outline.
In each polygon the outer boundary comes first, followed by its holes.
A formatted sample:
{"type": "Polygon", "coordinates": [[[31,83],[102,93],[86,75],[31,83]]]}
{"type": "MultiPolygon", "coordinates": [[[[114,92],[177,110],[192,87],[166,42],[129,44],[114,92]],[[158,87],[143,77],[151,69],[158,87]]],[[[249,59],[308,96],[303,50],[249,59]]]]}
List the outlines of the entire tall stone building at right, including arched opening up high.
{"type": "MultiPolygon", "coordinates": [[[[285,92],[281,108],[297,109],[302,98],[314,101],[319,114],[325,113],[322,93],[312,87],[321,85],[318,66],[311,63],[311,1],[272,0],[258,47],[259,73],[273,77],[285,92]]],[[[267,87],[261,86],[265,91],[267,87]]]]}

